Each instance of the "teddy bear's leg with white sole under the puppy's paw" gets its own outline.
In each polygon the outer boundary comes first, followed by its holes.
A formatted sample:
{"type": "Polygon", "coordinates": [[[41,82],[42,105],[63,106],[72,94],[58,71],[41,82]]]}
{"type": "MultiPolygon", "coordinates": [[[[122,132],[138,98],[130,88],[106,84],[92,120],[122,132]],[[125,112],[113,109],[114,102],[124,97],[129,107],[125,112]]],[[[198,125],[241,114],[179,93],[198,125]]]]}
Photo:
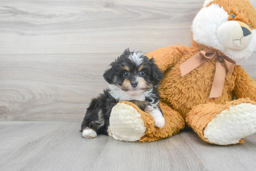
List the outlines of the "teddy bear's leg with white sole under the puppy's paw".
{"type": "Polygon", "coordinates": [[[123,141],[155,141],[170,137],[184,128],[185,122],[181,115],[168,107],[160,104],[164,113],[165,126],[155,127],[153,117],[135,104],[122,101],[112,108],[109,123],[114,139],[123,141]]]}

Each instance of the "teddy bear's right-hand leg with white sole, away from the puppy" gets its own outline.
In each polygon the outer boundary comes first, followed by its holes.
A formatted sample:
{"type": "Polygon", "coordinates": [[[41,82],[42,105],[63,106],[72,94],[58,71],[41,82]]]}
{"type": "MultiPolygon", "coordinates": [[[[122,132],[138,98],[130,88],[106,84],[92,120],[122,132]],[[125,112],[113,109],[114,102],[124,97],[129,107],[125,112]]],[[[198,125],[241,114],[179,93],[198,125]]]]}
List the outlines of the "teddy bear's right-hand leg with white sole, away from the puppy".
{"type": "Polygon", "coordinates": [[[187,114],[186,123],[208,143],[243,143],[243,138],[256,132],[256,103],[247,98],[225,105],[200,104],[187,114]]]}

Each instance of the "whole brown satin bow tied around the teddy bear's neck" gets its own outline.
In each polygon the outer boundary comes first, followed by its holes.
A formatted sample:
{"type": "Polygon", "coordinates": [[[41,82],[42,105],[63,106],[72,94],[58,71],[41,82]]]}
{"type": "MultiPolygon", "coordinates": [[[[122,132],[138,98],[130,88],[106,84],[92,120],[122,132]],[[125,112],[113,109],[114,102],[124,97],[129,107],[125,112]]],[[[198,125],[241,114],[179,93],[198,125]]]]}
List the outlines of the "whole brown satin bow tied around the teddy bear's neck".
{"type": "MultiPolygon", "coordinates": [[[[192,56],[191,58],[189,58],[187,61],[185,61],[179,66],[179,68],[181,69],[181,76],[183,77],[184,75],[190,73],[193,69],[200,66],[205,61],[209,59],[211,60],[215,56],[215,54],[216,52],[211,50],[202,50],[199,53],[195,54],[194,56],[192,56]]],[[[228,72],[232,74],[234,67],[236,65],[236,62],[226,56],[223,56],[222,58],[226,64],[228,72]]],[[[225,74],[226,74],[226,69],[224,64],[221,63],[219,59],[217,59],[216,71],[215,71],[215,75],[212,83],[212,89],[211,89],[209,98],[220,97],[222,95],[225,74]]]]}

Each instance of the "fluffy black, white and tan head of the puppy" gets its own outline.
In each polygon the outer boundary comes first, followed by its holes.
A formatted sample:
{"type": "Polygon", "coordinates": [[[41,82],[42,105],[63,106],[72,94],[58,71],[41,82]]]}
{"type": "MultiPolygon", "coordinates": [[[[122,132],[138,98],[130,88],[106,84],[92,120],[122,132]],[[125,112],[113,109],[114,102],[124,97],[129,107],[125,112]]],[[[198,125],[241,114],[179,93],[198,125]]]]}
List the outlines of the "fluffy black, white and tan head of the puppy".
{"type": "Polygon", "coordinates": [[[114,84],[124,91],[148,90],[157,86],[163,73],[154,63],[140,51],[130,52],[127,48],[103,74],[109,84],[114,84]]]}

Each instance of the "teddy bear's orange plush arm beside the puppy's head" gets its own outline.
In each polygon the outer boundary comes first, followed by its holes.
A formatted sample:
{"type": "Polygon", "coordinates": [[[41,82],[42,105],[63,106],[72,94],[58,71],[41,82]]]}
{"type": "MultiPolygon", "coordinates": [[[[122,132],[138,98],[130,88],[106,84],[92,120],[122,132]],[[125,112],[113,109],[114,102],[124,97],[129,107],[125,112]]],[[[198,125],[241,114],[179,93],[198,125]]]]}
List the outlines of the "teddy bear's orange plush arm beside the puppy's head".
{"type": "Polygon", "coordinates": [[[148,58],[154,58],[162,72],[172,67],[183,56],[186,46],[168,46],[147,53],[148,58]]]}

